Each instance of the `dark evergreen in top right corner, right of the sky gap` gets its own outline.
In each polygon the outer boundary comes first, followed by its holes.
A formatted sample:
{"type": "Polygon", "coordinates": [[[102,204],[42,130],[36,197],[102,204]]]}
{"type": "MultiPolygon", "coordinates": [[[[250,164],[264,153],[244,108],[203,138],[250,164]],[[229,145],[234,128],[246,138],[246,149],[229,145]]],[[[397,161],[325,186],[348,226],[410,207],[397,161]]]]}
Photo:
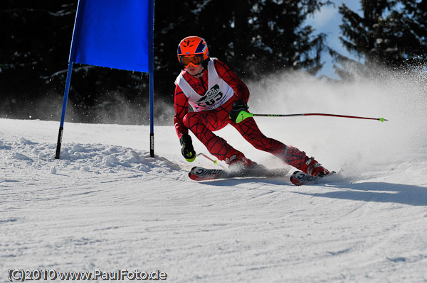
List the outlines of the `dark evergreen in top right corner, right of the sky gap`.
{"type": "MultiPolygon", "coordinates": [[[[425,62],[426,41],[426,1],[363,0],[362,16],[345,4],[339,6],[342,14],[342,34],[344,47],[354,55],[363,58],[359,70],[364,67],[413,67],[425,62]]],[[[351,62],[331,50],[337,62],[343,65],[351,62]]],[[[345,76],[347,72],[337,67],[337,72],[345,76]]]]}

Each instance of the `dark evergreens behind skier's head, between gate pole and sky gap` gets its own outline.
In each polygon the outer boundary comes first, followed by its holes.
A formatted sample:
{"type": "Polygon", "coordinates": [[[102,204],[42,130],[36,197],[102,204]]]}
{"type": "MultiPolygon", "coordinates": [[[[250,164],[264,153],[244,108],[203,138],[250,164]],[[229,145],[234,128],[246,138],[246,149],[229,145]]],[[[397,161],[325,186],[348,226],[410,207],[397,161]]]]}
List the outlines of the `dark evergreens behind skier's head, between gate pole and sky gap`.
{"type": "MultiPolygon", "coordinates": [[[[211,56],[227,62],[245,78],[289,69],[315,74],[322,67],[320,53],[326,48],[326,35],[315,35],[304,21],[325,4],[330,1],[206,0],[156,9],[155,57],[162,60],[159,68],[176,70],[168,79],[164,77],[164,84],[176,77],[179,63],[173,52],[188,35],[205,38],[211,56]]],[[[156,6],[168,5],[167,0],[156,1],[156,6]]]]}

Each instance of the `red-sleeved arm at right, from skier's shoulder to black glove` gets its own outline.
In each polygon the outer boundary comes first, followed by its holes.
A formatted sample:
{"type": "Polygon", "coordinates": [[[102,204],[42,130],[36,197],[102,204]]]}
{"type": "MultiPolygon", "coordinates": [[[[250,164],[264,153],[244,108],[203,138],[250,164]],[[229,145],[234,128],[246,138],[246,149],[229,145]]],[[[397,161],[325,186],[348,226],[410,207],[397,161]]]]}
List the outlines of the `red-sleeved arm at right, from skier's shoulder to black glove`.
{"type": "Polygon", "coordinates": [[[214,64],[218,76],[233,88],[236,100],[243,100],[248,103],[249,89],[246,84],[224,62],[215,60],[214,64]]]}

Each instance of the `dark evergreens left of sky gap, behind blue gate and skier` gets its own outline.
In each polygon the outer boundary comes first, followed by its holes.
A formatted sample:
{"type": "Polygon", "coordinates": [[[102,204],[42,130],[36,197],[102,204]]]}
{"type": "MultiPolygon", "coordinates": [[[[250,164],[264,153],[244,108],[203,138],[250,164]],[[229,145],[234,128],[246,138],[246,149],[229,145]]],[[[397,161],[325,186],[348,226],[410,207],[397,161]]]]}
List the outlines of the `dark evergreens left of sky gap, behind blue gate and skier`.
{"type": "MultiPolygon", "coordinates": [[[[24,104],[49,101],[44,111],[32,107],[33,118],[59,118],[77,2],[0,1],[0,113],[27,118],[24,104]]],[[[322,67],[325,35],[316,35],[304,21],[325,4],[330,1],[156,0],[155,106],[161,108],[162,100],[172,105],[174,79],[181,67],[176,47],[188,35],[204,37],[211,56],[243,79],[289,69],[315,74],[322,67]]],[[[76,110],[70,111],[74,121],[115,122],[104,120],[100,112],[122,105],[135,113],[148,104],[148,92],[147,74],[141,78],[137,72],[75,64],[68,108],[76,110]]],[[[129,116],[129,123],[142,123],[129,116]]]]}

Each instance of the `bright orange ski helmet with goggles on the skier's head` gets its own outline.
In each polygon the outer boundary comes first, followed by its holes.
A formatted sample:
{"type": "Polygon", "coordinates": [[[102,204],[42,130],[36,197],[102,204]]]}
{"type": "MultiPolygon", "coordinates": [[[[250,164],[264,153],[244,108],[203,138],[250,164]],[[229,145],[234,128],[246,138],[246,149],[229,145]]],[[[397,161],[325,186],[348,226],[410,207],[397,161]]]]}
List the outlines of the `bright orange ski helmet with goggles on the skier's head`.
{"type": "Polygon", "coordinates": [[[178,60],[184,67],[188,67],[190,64],[196,67],[208,58],[208,45],[199,36],[188,36],[178,45],[178,60]]]}

